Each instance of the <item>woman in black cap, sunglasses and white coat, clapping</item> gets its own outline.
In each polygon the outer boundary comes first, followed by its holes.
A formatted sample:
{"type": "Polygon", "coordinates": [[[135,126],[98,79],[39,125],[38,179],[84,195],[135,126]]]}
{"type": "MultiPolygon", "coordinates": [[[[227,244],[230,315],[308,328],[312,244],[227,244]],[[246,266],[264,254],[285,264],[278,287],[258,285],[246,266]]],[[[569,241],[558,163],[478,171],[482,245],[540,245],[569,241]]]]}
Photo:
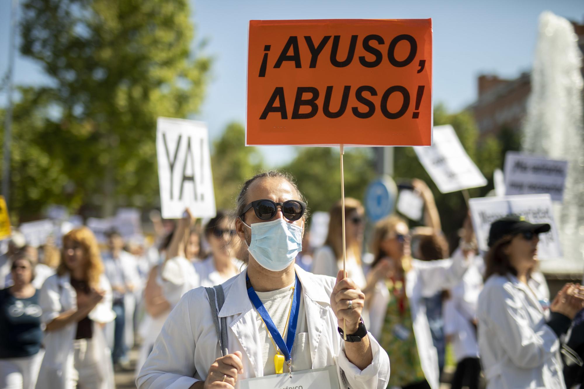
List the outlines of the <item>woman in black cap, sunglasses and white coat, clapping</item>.
{"type": "Polygon", "coordinates": [[[478,297],[478,345],[487,388],[565,388],[559,337],[584,308],[584,289],[567,283],[549,310],[530,284],[539,234],[547,223],[518,216],[495,220],[478,297]]]}

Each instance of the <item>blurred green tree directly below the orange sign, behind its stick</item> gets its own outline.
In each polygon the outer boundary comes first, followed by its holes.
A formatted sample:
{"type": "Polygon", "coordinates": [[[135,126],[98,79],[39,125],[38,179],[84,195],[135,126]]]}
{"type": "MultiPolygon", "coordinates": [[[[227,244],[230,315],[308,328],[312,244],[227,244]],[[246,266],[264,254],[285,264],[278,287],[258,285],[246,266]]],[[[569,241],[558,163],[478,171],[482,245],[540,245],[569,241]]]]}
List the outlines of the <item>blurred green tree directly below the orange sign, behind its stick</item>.
{"type": "MultiPolygon", "coordinates": [[[[369,148],[345,150],[345,196],[363,200],[367,184],[377,176],[369,148]]],[[[339,151],[330,147],[299,148],[298,154],[281,168],[296,178],[311,211],[328,211],[340,199],[339,151]]]]}

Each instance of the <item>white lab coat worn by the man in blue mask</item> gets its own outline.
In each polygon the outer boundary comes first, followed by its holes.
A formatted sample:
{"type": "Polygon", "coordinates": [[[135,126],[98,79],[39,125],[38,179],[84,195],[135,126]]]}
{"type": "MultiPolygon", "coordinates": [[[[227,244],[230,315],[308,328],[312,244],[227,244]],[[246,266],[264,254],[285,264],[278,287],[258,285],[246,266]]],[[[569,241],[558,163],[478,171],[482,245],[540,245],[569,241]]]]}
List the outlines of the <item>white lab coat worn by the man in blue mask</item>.
{"type": "MultiPolygon", "coordinates": [[[[359,370],[345,356],[337,319],[330,305],[336,280],[311,274],[297,265],[295,268],[302,284],[312,368],[336,365],[342,387],[385,389],[390,361],[371,334],[371,365],[359,370]],[[348,384],[343,385],[347,381],[348,384]]],[[[239,380],[263,376],[257,313],[246,290],[246,273],[242,271],[223,283],[225,304],[219,312],[219,317],[227,318],[228,351],[241,351],[243,355],[244,373],[239,380]]],[[[220,356],[207,294],[204,288],[190,290],[166,320],[136,384],[141,389],[188,388],[205,380],[211,364],[220,356]]]]}

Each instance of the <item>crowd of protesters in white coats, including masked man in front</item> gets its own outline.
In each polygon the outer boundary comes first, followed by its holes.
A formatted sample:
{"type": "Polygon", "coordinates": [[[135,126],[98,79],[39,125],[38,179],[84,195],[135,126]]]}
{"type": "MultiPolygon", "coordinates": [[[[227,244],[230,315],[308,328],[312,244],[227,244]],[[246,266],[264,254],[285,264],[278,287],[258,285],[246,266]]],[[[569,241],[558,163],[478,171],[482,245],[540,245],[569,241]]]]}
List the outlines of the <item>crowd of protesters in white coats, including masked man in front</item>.
{"type": "Polygon", "coordinates": [[[284,351],[250,288],[280,333],[302,290],[290,371],[336,363],[341,386],[438,389],[450,344],[453,389],[582,386],[584,289],[568,283],[550,297],[537,266],[538,235],[550,226],[499,219],[482,253],[468,217],[449,247],[432,192],[420,180],[412,188],[423,226],[390,215],[366,233],[363,205],[346,198],[314,250],[302,188],[276,171],[247,181],[235,212],[198,222],[186,209],[166,225],[152,213],[150,245],[115,228],[98,243],[78,227],[32,247],[15,230],[0,256],[0,387],[113,388],[134,347],[140,388],[234,387],[281,373],[272,360],[284,351]],[[199,287],[216,285],[225,305],[213,317],[199,287]],[[315,324],[312,309],[327,324],[315,324]],[[231,353],[215,334],[225,317],[231,353]],[[360,340],[342,342],[337,320],[360,340]]]}

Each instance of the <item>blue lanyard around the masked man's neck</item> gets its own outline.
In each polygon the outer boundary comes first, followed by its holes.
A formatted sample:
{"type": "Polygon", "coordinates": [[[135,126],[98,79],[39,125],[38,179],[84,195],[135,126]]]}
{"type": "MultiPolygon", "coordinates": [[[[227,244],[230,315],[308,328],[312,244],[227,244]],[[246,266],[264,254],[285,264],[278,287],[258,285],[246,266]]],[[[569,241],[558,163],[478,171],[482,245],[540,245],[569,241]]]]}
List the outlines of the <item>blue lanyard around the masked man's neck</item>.
{"type": "Polygon", "coordinates": [[[276,342],[280,351],[284,354],[286,360],[290,360],[292,354],[292,346],[294,345],[294,338],[296,337],[296,327],[298,324],[298,308],[300,307],[300,290],[302,286],[298,281],[298,276],[296,276],[296,281],[294,283],[294,296],[292,297],[292,307],[290,310],[290,320],[288,320],[288,334],[286,335],[286,343],[280,335],[280,331],[276,328],[276,325],[272,321],[270,314],[267,313],[266,308],[263,306],[262,300],[259,299],[258,294],[253,290],[253,286],[249,281],[249,277],[245,275],[246,286],[248,288],[249,300],[253,303],[253,306],[258,310],[259,316],[262,317],[263,322],[266,324],[267,330],[272,334],[272,339],[276,342]]]}

